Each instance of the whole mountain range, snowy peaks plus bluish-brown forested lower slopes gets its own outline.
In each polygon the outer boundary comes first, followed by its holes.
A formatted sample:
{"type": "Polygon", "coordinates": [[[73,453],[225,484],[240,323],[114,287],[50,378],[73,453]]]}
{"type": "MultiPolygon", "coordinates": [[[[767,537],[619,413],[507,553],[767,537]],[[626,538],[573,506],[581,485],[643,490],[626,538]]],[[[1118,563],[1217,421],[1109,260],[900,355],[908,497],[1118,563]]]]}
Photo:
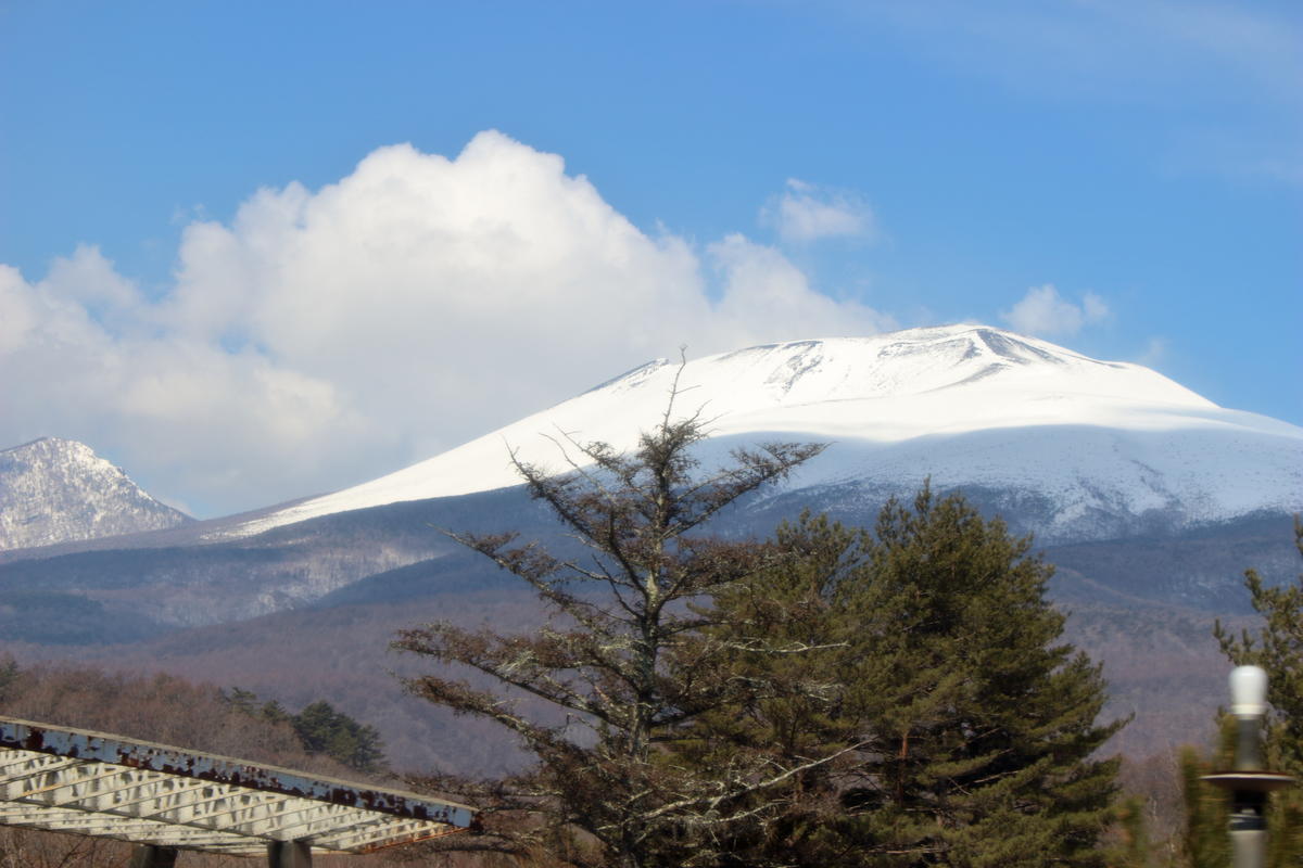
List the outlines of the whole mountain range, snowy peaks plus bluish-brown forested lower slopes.
{"type": "Polygon", "coordinates": [[[60,658],[143,669],[167,660],[258,690],[297,690],[305,678],[317,695],[365,685],[394,743],[464,743],[431,729],[430,714],[403,711],[396,687],[377,687],[375,673],[392,665],[377,655],[394,630],[422,621],[529,629],[537,610],[525,586],[433,528],[566,545],[517,487],[508,450],[564,468],[567,436],[632,448],[662,418],[676,376],[676,411],[700,410],[714,431],[705,462],[765,440],[831,444],[786,489],[710,532],[762,536],[804,508],[872,526],[885,497],[908,497],[929,475],[1016,532],[1036,531],[1058,566],[1050,593],[1072,612],[1070,638],[1105,662],[1117,711],[1138,712],[1127,738],[1145,751],[1188,740],[1188,709],[1218,701],[1210,623],[1247,613],[1242,571],[1253,566],[1269,583],[1298,574],[1289,513],[1303,510],[1303,429],[1217,407],[1144,367],[956,325],[757,346],[681,370],[653,362],[335,495],[39,549],[3,547],[55,539],[44,528],[87,502],[119,511],[103,496],[112,484],[69,470],[98,462],[78,444],[0,452],[0,635],[60,658]],[[38,534],[16,543],[17,526],[38,534]]]}

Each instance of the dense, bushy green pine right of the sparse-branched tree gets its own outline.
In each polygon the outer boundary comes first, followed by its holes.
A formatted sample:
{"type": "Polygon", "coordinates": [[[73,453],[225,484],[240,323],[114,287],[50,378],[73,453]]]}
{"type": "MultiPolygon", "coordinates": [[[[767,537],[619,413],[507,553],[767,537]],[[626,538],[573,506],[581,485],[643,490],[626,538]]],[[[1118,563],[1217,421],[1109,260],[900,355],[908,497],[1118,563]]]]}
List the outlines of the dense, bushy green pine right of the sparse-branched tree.
{"type": "Polygon", "coordinates": [[[777,544],[788,560],[713,613],[717,665],[766,690],[675,746],[801,766],[727,829],[722,864],[1104,864],[1117,760],[1092,755],[1122,722],[1096,725],[1100,668],[1061,642],[1029,540],[925,487],[873,532],[803,515],[777,544]]]}

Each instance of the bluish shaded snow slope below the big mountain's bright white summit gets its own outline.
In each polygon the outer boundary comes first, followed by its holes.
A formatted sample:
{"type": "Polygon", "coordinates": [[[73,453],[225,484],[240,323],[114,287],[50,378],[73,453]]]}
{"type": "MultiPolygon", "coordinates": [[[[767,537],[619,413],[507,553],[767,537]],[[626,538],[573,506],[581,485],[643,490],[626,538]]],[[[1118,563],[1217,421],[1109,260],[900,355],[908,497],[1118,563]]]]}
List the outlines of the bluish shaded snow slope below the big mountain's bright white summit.
{"type": "MultiPolygon", "coordinates": [[[[719,445],[727,445],[726,439],[719,445]]],[[[1042,545],[1167,535],[1190,526],[1299,509],[1300,445],[1224,431],[1126,431],[1038,426],[834,444],[834,466],[812,465],[773,500],[855,521],[928,479],[964,491],[1042,545]],[[1229,454],[1251,454],[1247,461],[1229,454]],[[794,491],[795,489],[795,491],[794,491]]]]}

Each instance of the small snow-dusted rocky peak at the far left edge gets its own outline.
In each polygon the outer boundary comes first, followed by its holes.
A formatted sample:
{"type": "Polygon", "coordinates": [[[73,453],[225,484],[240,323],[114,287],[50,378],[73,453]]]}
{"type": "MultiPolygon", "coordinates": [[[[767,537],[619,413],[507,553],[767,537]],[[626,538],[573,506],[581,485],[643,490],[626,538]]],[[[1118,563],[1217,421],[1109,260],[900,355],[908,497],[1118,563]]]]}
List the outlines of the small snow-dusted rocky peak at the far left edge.
{"type": "Polygon", "coordinates": [[[76,440],[42,437],[0,450],[0,550],[189,522],[76,440]]]}

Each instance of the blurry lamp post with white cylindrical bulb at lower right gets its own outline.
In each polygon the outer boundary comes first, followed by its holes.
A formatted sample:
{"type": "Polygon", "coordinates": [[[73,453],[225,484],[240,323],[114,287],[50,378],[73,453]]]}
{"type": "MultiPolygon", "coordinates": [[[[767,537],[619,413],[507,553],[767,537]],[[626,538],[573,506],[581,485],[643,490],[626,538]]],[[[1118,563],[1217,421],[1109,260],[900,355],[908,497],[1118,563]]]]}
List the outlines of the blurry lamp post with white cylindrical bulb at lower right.
{"type": "Polygon", "coordinates": [[[1267,795],[1294,778],[1263,768],[1263,717],[1267,714],[1267,673],[1237,666],[1230,673],[1230,712],[1235,716],[1235,764],[1229,772],[1205,774],[1213,786],[1229,790],[1230,847],[1234,868],[1267,864],[1267,795]]]}

